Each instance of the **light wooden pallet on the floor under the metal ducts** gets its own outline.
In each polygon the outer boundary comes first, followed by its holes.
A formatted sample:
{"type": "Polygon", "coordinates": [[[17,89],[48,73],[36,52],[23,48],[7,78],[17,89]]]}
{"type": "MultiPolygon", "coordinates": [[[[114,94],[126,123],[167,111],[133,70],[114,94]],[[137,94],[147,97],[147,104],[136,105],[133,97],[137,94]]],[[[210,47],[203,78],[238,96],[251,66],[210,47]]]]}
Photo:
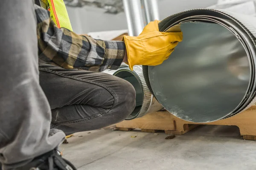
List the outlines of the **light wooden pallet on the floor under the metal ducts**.
{"type": "Polygon", "coordinates": [[[193,123],[173,116],[167,111],[149,113],[141,118],[117,123],[117,130],[129,131],[140,128],[142,132],[155,133],[164,130],[166,134],[183,135],[198,125],[235,125],[243,139],[256,140],[256,105],[236,116],[210,123],[193,123]]]}

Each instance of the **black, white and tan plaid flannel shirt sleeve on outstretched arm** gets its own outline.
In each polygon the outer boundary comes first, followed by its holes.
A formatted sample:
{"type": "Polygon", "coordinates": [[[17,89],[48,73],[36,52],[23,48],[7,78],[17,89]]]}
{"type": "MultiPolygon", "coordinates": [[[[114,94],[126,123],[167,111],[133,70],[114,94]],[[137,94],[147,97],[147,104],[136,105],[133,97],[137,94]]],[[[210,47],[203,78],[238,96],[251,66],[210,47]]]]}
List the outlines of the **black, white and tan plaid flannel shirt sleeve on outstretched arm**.
{"type": "Polygon", "coordinates": [[[40,61],[63,68],[89,71],[117,69],[125,56],[122,41],[95,40],[58,28],[49,11],[35,5],[37,18],[38,55],[40,61]]]}

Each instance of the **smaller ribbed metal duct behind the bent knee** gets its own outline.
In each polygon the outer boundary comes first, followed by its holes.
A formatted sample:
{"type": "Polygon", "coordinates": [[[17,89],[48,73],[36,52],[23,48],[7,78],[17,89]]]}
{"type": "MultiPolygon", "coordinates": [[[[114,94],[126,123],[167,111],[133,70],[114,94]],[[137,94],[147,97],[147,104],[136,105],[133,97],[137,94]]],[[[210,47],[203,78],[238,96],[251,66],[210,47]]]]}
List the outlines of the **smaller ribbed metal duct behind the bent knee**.
{"type": "Polygon", "coordinates": [[[163,108],[148,89],[143,77],[142,66],[134,66],[134,71],[131,71],[129,67],[121,68],[113,75],[130,82],[136,91],[136,107],[126,120],[142,117],[147,113],[159,111],[163,108]]]}

